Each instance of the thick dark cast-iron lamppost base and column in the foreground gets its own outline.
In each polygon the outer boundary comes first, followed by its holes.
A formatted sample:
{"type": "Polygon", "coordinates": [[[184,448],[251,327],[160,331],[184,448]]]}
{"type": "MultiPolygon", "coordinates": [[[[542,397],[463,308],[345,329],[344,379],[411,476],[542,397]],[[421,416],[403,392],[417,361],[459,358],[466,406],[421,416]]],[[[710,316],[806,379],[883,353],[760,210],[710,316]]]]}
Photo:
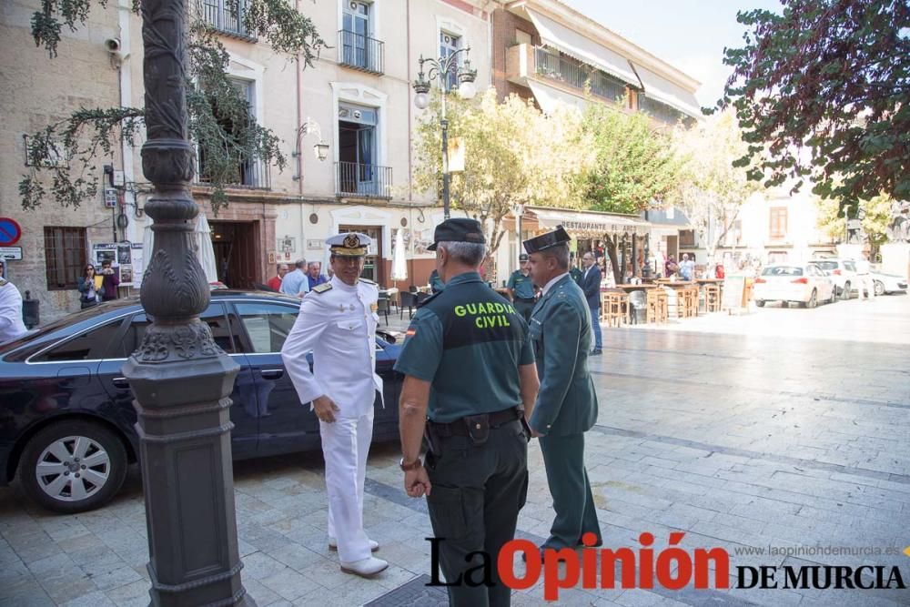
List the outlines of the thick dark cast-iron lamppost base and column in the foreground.
{"type": "Polygon", "coordinates": [[[134,401],[148,525],[151,603],[250,605],[240,582],[228,395],[239,367],[199,314],[209,302],[190,244],[198,207],[187,137],[186,0],[143,0],[147,142],[155,250],[142,281],[152,324],[123,373],[134,401]]]}

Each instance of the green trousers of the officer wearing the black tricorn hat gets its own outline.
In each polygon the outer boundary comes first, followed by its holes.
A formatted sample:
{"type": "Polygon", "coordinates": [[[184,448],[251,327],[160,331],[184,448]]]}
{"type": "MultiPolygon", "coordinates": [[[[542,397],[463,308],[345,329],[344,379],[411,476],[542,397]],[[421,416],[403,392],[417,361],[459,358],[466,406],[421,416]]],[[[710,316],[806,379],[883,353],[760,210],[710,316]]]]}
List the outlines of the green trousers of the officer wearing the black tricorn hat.
{"type": "Polygon", "coordinates": [[[544,548],[574,548],[591,531],[601,541],[601,524],[594,511],[591,482],[584,469],[584,434],[541,436],[543,465],[553,496],[556,518],[544,548]]]}

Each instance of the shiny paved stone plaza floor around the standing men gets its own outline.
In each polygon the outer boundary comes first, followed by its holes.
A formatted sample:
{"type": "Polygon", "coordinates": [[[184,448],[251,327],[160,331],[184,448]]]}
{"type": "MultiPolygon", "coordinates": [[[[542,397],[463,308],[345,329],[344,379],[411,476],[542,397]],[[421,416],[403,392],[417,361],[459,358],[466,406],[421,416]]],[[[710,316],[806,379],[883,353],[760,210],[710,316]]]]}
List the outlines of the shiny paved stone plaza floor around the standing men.
{"type": "MultiPolygon", "coordinates": [[[[686,549],[727,548],[732,571],[898,565],[910,584],[903,554],[735,553],[910,545],[908,345],[906,296],[605,329],[603,356],[591,365],[600,417],[587,463],[606,547],[637,552],[639,534],[650,531],[656,553],[671,531],[685,531],[686,549]]],[[[243,580],[260,606],[358,605],[430,573],[425,502],[401,489],[398,458],[390,444],[369,458],[366,527],[391,563],[373,581],[339,572],[328,550],[319,453],[236,465],[243,580]]],[[[552,513],[536,441],[530,458],[519,528],[539,541],[552,513]]],[[[37,510],[17,486],[0,490],[0,534],[0,605],[148,603],[136,470],[112,505],[76,516],[37,510]]],[[[513,604],[540,604],[541,596],[538,585],[513,604]]],[[[433,600],[430,593],[413,604],[433,600]]],[[[569,590],[560,604],[893,607],[910,604],[910,590],[569,590]]]]}

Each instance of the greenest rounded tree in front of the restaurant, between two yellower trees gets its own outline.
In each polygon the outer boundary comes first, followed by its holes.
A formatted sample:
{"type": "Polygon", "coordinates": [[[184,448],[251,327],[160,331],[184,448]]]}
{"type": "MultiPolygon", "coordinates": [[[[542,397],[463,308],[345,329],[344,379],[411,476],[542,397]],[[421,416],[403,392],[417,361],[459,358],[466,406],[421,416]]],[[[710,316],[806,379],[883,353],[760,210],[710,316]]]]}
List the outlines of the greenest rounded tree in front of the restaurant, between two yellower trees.
{"type": "MultiPolygon", "coordinates": [[[[671,139],[651,118],[589,103],[582,135],[591,141],[594,161],[581,179],[584,206],[608,213],[638,215],[676,187],[682,163],[671,139]]],[[[606,235],[607,254],[617,282],[622,281],[616,249],[619,238],[606,235]]]]}

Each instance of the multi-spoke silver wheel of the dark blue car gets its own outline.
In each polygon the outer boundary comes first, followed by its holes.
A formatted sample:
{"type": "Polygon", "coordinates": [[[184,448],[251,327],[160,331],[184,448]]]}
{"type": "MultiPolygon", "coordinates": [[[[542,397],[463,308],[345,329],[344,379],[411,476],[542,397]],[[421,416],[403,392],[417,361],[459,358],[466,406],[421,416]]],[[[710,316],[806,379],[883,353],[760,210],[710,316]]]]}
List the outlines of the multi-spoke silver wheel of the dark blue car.
{"type": "Polygon", "coordinates": [[[47,510],[84,512],[120,491],[126,465],[126,448],[114,432],[91,421],[59,421],[25,445],[19,479],[28,497],[47,510]]]}

